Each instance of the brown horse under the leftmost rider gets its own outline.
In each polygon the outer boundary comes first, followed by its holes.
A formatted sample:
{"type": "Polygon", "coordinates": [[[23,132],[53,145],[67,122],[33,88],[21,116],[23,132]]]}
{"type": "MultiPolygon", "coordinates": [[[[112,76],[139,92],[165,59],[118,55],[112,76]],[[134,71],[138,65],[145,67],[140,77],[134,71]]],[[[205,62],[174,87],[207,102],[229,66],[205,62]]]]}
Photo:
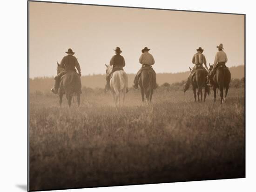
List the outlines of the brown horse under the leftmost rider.
{"type": "MultiPolygon", "coordinates": [[[[60,64],[57,62],[57,74],[64,71],[60,64]]],[[[76,95],[78,105],[80,105],[80,94],[81,94],[81,79],[75,71],[67,71],[65,75],[61,77],[59,96],[60,105],[62,103],[62,97],[66,94],[68,106],[71,106],[72,96],[76,95]]]]}

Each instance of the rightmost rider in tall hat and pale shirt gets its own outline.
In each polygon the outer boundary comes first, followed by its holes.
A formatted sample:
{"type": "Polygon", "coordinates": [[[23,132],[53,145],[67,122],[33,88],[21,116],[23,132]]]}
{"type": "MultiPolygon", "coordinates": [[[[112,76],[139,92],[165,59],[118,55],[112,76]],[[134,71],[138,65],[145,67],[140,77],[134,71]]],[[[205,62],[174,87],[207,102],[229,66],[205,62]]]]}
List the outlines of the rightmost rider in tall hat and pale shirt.
{"type": "Polygon", "coordinates": [[[221,43],[219,46],[216,46],[218,48],[218,52],[216,53],[213,69],[210,71],[208,76],[208,83],[209,86],[212,86],[213,83],[213,76],[217,70],[217,67],[220,65],[224,65],[228,62],[227,54],[223,51],[223,44],[221,43]]]}

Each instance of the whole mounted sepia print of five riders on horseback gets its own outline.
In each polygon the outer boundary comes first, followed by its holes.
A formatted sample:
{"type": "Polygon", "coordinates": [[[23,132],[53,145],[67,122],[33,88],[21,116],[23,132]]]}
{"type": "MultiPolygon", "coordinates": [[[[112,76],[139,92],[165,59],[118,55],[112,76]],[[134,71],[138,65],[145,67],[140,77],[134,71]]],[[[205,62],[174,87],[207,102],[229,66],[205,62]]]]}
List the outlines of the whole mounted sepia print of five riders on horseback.
{"type": "Polygon", "coordinates": [[[244,14],[28,1],[28,190],[244,178],[244,71],[244,14]]]}

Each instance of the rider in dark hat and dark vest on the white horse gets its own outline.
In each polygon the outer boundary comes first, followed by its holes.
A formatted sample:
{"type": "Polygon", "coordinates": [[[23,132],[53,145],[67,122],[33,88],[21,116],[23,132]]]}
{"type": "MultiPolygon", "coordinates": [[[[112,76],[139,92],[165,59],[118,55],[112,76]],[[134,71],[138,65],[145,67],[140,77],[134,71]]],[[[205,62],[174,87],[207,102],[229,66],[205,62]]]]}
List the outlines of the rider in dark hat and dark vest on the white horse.
{"type": "MultiPolygon", "coordinates": [[[[107,84],[105,86],[106,91],[110,89],[110,78],[112,74],[117,70],[123,70],[123,67],[125,66],[124,58],[123,56],[120,55],[122,52],[120,47],[116,47],[114,51],[115,51],[115,55],[110,59],[110,62],[109,62],[110,66],[113,66],[113,70],[106,77],[106,80],[107,80],[107,84]]],[[[128,88],[126,88],[126,92],[128,92],[128,88]]]]}

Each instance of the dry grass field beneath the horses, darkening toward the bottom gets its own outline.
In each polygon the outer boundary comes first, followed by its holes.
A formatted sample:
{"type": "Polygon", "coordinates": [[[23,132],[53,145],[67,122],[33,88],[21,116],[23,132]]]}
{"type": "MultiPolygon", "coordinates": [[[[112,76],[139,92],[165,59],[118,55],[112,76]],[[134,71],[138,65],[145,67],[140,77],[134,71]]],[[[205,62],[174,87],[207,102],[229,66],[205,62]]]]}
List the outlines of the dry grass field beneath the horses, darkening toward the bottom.
{"type": "Polygon", "coordinates": [[[31,93],[30,190],[245,177],[244,88],[217,98],[159,88],[147,107],[130,90],[117,111],[102,90],[71,109],[31,93]]]}

